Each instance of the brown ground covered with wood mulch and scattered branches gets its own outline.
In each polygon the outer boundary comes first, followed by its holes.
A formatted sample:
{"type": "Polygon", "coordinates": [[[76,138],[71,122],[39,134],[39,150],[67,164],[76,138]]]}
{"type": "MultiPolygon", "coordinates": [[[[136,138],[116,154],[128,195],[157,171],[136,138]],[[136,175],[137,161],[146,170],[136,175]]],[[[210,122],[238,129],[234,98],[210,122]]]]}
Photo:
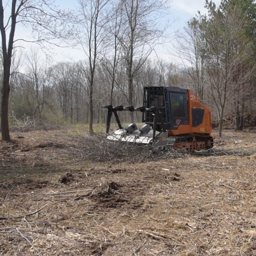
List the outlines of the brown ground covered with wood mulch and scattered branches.
{"type": "Polygon", "coordinates": [[[12,138],[0,144],[0,255],[256,255],[254,133],[215,135],[233,153],[209,156],[111,157],[83,131],[12,138]]]}

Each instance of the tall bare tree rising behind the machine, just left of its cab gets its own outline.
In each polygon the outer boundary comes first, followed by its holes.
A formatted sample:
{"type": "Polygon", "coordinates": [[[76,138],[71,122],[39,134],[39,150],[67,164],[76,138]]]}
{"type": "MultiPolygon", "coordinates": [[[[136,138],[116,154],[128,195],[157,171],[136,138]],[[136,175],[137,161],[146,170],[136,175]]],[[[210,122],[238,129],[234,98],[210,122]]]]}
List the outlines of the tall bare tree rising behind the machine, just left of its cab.
{"type": "MultiPolygon", "coordinates": [[[[168,11],[168,6],[166,0],[121,0],[121,2],[123,35],[120,40],[126,62],[128,104],[133,105],[134,77],[165,35],[166,27],[162,26],[161,18],[168,11]]],[[[134,122],[133,112],[130,113],[130,117],[131,122],[134,122]]]]}

